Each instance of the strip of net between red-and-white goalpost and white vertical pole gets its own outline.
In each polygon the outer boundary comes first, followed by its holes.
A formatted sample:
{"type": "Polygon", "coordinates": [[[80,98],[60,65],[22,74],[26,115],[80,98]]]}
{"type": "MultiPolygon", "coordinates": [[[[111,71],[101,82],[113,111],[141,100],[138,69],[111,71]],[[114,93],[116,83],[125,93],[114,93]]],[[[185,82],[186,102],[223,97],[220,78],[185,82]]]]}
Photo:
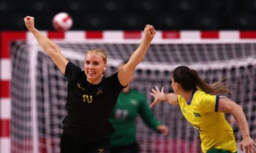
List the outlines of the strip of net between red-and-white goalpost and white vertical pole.
{"type": "Polygon", "coordinates": [[[27,45],[19,42],[12,46],[12,120],[11,152],[33,152],[31,126],[31,89],[27,45]]]}

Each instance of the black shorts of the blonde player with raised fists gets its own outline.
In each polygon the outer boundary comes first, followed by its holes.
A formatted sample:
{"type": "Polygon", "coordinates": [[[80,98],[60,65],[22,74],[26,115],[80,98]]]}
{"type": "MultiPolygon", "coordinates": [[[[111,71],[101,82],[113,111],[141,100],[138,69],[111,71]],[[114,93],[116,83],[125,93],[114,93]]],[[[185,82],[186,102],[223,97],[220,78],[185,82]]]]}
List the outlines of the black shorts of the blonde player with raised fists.
{"type": "Polygon", "coordinates": [[[110,153],[110,138],[100,141],[84,141],[63,132],[60,147],[61,153],[110,153]]]}

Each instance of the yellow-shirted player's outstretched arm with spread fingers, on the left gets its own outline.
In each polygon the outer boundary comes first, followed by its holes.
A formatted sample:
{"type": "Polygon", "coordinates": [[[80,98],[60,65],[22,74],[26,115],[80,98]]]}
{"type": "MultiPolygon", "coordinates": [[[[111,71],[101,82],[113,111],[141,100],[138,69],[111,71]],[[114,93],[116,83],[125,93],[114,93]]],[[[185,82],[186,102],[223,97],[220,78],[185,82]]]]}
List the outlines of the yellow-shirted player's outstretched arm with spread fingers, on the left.
{"type": "Polygon", "coordinates": [[[152,88],[152,92],[150,92],[150,95],[154,97],[153,103],[151,103],[150,107],[154,107],[156,104],[167,101],[171,105],[177,105],[177,95],[174,93],[168,93],[165,94],[164,87],[161,88],[161,91],[156,86],[155,88],[152,88]]]}

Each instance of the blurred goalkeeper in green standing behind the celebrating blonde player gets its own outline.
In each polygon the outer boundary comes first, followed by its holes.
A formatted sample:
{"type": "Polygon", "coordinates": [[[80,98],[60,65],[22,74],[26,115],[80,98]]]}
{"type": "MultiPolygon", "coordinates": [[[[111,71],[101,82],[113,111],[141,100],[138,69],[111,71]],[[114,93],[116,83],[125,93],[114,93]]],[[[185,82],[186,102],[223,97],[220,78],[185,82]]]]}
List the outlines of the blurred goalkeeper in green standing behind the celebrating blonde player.
{"type": "MultiPolygon", "coordinates": [[[[119,65],[117,71],[127,63],[119,65]]],[[[130,83],[133,80],[130,79],[130,83]]],[[[156,120],[143,93],[130,88],[130,84],[120,92],[117,103],[111,113],[110,122],[115,132],[111,135],[111,153],[138,153],[136,140],[136,119],[140,115],[145,124],[154,131],[167,135],[169,129],[156,120]]]]}

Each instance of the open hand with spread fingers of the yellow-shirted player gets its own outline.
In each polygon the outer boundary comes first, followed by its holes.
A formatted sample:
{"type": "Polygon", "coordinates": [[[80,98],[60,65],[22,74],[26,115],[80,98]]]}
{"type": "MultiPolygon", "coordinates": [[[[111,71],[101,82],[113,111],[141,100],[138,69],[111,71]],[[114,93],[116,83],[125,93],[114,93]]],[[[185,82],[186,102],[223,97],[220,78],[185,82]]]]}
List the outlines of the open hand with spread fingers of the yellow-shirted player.
{"type": "Polygon", "coordinates": [[[165,101],[167,99],[165,92],[164,92],[164,87],[161,88],[161,91],[158,89],[156,86],[155,89],[151,89],[152,92],[150,92],[150,95],[154,97],[153,103],[150,104],[150,107],[154,107],[156,104],[160,103],[161,101],[165,101]]]}

